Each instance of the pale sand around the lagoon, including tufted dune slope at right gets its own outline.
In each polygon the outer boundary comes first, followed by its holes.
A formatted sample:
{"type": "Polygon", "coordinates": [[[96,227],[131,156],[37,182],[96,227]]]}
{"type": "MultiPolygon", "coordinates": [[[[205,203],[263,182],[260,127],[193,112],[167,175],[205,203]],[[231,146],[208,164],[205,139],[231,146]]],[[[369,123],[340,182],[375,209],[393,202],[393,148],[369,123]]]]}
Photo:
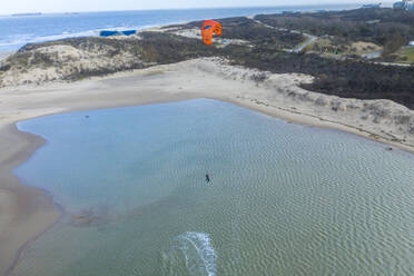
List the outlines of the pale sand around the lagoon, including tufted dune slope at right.
{"type": "Polygon", "coordinates": [[[304,75],[265,73],[210,58],[117,73],[75,83],[50,83],[0,90],[0,274],[7,273],[33,240],[59,217],[43,191],[21,185],[11,169],[42,145],[14,124],[71,110],[147,105],[194,98],[229,101],[298,124],[335,128],[414,151],[407,132],[414,112],[387,100],[341,99],[306,91],[304,75]],[[405,125],[395,118],[406,116],[405,125]],[[408,120],[408,121],[406,121],[408,120]],[[397,142],[396,140],[405,140],[397,142]],[[394,140],[394,141],[392,141],[394,140]]]}

